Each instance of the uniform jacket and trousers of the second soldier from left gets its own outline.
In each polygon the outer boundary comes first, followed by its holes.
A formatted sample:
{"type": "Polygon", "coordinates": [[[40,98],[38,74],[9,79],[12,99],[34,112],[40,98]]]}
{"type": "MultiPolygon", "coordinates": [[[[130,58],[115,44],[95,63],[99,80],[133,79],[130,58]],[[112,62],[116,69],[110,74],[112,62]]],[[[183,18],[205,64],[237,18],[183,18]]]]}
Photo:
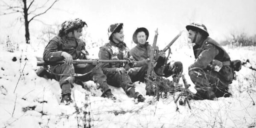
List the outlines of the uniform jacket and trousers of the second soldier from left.
{"type": "MultiPolygon", "coordinates": [[[[109,43],[100,47],[99,50],[99,59],[100,60],[128,60],[130,58],[129,49],[126,47],[124,42],[119,44],[109,41],[109,43]]],[[[136,61],[133,64],[129,64],[132,67],[140,67],[146,64],[146,61],[136,61]]],[[[134,97],[135,99],[138,96],[138,93],[135,92],[134,83],[131,81],[130,76],[125,74],[119,74],[116,72],[116,68],[128,66],[123,63],[105,63],[102,64],[102,71],[107,76],[108,84],[114,87],[122,87],[125,90],[125,93],[134,97]]],[[[129,66],[129,67],[130,67],[129,66]]],[[[128,68],[129,68],[128,67],[128,68]]],[[[128,70],[126,68],[126,70],[128,70]]]]}

